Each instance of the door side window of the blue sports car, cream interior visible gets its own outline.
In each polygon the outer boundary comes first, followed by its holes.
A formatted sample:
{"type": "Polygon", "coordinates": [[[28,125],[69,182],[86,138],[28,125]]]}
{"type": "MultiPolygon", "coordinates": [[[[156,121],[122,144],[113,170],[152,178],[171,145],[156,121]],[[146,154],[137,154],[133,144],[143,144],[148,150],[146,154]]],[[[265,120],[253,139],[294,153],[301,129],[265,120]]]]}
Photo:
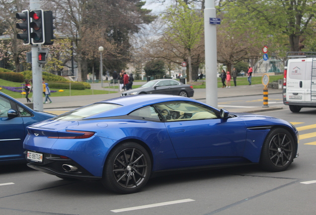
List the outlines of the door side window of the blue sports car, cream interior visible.
{"type": "Polygon", "coordinates": [[[218,118],[212,108],[193,102],[169,102],[156,105],[164,121],[218,118]]]}

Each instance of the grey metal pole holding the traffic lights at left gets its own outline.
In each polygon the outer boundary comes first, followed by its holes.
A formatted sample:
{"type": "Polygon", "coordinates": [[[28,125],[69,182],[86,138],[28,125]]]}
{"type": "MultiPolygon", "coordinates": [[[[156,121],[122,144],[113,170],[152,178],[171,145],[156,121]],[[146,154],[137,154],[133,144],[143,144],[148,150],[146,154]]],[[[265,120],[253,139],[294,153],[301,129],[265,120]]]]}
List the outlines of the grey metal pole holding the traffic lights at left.
{"type": "MultiPolygon", "coordinates": [[[[30,9],[40,9],[40,0],[30,0],[30,9]]],[[[43,111],[42,64],[38,63],[41,45],[32,45],[33,109],[43,111]]]]}

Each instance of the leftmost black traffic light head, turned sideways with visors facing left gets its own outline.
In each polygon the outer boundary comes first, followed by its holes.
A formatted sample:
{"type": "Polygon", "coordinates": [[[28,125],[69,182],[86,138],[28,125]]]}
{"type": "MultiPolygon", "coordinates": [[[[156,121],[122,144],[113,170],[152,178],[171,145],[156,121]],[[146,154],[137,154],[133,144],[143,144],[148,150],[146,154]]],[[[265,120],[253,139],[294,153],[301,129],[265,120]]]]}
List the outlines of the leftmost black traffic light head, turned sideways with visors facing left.
{"type": "Polygon", "coordinates": [[[17,29],[22,29],[23,33],[16,34],[17,39],[23,40],[24,45],[30,44],[30,18],[28,10],[22,10],[21,13],[15,13],[17,19],[22,19],[22,23],[16,23],[17,29]]]}

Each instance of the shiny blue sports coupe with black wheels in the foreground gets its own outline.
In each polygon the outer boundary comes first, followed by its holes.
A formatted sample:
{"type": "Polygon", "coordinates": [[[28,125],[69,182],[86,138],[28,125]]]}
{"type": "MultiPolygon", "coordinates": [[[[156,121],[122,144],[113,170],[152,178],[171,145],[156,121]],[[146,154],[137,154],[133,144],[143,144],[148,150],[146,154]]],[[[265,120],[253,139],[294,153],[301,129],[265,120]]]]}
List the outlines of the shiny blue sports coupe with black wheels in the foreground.
{"type": "Polygon", "coordinates": [[[164,171],[258,163],[277,172],[298,155],[298,131],[289,122],[180,96],[106,100],[27,129],[29,167],[62,179],[101,180],[123,194],[164,171]]]}

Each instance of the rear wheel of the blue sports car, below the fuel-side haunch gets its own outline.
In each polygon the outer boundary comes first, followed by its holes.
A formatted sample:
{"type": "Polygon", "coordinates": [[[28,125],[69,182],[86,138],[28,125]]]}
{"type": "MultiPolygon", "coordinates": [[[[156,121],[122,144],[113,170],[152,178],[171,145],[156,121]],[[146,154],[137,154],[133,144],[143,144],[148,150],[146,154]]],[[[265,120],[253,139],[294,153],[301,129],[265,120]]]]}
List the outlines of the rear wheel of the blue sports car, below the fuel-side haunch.
{"type": "Polygon", "coordinates": [[[101,182],[116,193],[136,193],[146,185],[151,171],[152,161],[146,149],[137,143],[126,142],[109,153],[101,182]]]}

